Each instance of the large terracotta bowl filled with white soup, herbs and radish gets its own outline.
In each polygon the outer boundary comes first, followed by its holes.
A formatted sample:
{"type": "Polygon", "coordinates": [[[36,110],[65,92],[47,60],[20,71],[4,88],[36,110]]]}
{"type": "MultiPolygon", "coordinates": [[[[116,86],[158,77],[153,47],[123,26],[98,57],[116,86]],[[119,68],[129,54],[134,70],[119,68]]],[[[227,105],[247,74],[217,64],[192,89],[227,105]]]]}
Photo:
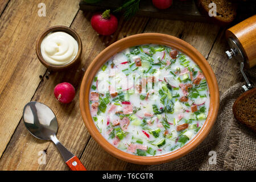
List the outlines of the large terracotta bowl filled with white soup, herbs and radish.
{"type": "Polygon", "coordinates": [[[207,60],[165,34],[138,34],[105,48],[80,89],[82,118],[109,154],[131,163],[180,158],[217,117],[219,93],[207,60]]]}

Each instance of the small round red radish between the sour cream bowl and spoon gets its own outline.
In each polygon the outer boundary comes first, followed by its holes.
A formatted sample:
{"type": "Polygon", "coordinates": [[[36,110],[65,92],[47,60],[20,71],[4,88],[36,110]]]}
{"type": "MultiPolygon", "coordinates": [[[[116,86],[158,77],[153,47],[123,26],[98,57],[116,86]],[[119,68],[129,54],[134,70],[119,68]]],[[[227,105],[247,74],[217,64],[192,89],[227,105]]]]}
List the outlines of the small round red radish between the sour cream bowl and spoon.
{"type": "Polygon", "coordinates": [[[75,94],[75,88],[68,82],[57,84],[54,88],[54,95],[56,99],[64,104],[73,101],[75,94]]]}

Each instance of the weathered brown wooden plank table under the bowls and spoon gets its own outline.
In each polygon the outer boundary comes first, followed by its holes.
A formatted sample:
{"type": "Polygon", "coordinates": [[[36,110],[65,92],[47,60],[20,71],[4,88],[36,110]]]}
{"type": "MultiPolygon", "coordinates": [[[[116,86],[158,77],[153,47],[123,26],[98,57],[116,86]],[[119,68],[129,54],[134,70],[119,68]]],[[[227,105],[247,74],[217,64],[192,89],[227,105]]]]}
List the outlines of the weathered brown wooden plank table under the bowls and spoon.
{"type": "MultiPolygon", "coordinates": [[[[59,122],[57,138],[77,155],[88,170],[140,169],[106,153],[90,137],[79,109],[79,89],[84,71],[106,46],[123,37],[143,32],[173,35],[190,43],[208,60],[216,74],[220,94],[239,81],[237,63],[227,60],[225,28],[214,24],[135,17],[119,19],[112,36],[98,36],[90,26],[92,13],[79,10],[79,0],[50,1],[46,17],[38,16],[41,0],[1,0],[0,2],[0,170],[68,170],[52,142],[28,133],[22,111],[27,102],[39,101],[51,107],[59,122]],[[36,57],[35,44],[44,29],[64,25],[81,36],[81,64],[68,72],[48,71],[36,57]],[[41,78],[40,78],[41,76],[41,78]],[[43,76],[43,78],[42,78],[43,76]],[[59,82],[71,82],[76,89],[71,104],[60,104],[53,95],[59,82]],[[46,164],[39,164],[42,151],[46,164]]],[[[41,156],[42,157],[42,156],[41,156]]]]}

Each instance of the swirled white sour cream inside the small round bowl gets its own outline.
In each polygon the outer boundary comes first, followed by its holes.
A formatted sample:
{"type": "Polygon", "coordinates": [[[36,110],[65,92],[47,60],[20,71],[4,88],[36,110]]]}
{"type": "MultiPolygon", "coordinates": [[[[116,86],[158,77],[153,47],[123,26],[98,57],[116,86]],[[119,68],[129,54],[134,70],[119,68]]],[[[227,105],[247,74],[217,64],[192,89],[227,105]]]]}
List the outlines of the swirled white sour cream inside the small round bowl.
{"type": "Polygon", "coordinates": [[[65,32],[52,32],[43,39],[40,48],[47,63],[65,65],[75,59],[79,47],[73,36],[65,32]]]}

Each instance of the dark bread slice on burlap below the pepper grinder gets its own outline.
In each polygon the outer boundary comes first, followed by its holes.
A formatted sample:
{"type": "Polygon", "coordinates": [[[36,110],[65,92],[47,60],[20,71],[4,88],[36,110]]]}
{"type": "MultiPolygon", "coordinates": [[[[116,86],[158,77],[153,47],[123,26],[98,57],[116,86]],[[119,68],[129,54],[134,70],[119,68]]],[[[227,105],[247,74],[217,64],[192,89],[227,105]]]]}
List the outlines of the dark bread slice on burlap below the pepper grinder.
{"type": "Polygon", "coordinates": [[[233,105],[234,117],[256,132],[256,88],[243,93],[233,105]]]}

